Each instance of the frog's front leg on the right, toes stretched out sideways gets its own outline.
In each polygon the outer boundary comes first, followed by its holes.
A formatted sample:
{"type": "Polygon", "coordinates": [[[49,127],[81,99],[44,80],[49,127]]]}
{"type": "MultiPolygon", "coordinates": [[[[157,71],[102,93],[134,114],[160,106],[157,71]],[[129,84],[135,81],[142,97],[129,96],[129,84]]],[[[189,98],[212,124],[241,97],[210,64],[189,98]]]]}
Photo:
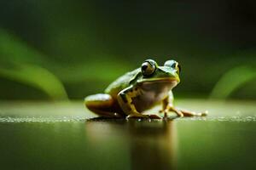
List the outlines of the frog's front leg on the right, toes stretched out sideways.
{"type": "Polygon", "coordinates": [[[177,114],[177,116],[207,116],[206,112],[196,113],[194,111],[185,111],[180,110],[174,107],[173,105],[173,94],[172,91],[169,93],[169,95],[166,97],[166,99],[163,100],[162,104],[162,110],[160,112],[164,111],[165,117],[167,117],[167,113],[169,111],[173,111],[177,114]]]}

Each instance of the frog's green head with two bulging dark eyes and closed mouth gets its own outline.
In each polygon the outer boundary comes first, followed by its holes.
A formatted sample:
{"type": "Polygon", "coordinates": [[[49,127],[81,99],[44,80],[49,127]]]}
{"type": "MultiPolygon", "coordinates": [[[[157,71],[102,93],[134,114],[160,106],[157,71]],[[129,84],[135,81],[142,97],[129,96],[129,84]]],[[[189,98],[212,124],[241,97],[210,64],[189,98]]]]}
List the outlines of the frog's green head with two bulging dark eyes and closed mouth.
{"type": "Polygon", "coordinates": [[[167,60],[163,66],[158,65],[153,59],[147,59],[141,66],[142,77],[138,83],[168,83],[174,88],[179,80],[180,65],[175,60],[167,60]]]}

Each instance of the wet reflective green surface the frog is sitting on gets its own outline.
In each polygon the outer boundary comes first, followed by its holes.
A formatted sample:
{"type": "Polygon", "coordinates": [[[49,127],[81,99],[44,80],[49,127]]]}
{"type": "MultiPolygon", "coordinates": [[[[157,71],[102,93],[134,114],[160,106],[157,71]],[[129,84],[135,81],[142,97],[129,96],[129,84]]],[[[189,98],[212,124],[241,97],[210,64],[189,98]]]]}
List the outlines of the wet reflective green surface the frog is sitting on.
{"type": "MultiPolygon", "coordinates": [[[[255,169],[256,105],[181,101],[204,118],[90,119],[79,103],[0,104],[1,169],[255,169]]],[[[153,110],[154,112],[154,110],[153,110]]]]}

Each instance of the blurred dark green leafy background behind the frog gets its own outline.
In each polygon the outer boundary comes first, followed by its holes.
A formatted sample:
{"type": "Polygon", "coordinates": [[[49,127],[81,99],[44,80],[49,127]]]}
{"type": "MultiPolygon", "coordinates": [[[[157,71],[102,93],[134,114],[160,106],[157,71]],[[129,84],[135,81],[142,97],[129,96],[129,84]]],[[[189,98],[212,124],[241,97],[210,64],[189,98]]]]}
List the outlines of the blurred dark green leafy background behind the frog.
{"type": "Polygon", "coordinates": [[[0,99],[83,99],[155,59],[178,98],[256,99],[256,3],[0,1],[0,99]]]}

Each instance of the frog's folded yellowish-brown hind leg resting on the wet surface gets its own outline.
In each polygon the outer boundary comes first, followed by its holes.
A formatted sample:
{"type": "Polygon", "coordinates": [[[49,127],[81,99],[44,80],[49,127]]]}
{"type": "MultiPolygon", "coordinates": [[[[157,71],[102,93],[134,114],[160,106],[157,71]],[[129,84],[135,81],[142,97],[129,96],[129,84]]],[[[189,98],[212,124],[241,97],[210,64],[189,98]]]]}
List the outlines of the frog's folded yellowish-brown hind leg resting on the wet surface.
{"type": "Polygon", "coordinates": [[[90,110],[102,117],[124,117],[116,112],[114,100],[109,94],[94,94],[84,99],[84,105],[90,110]]]}

